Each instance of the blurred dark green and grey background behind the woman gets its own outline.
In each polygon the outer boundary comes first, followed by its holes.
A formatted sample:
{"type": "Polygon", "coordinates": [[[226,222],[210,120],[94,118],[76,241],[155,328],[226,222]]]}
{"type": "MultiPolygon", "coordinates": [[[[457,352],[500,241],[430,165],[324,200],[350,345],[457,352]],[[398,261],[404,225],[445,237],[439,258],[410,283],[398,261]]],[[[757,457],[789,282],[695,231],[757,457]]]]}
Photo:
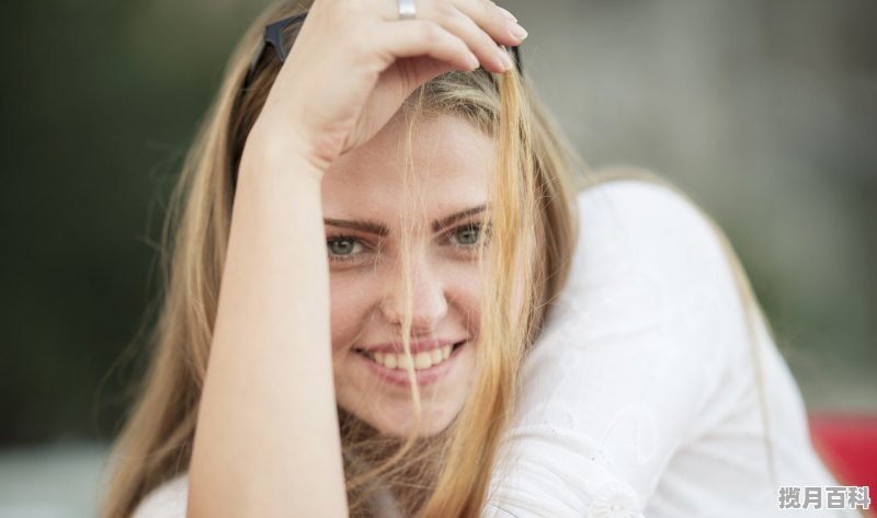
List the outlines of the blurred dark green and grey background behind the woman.
{"type": "MultiPolygon", "coordinates": [[[[727,231],[808,410],[877,414],[877,3],[501,3],[586,161],[653,169],[727,231]]],[[[0,8],[0,517],[93,514],[169,189],[265,4],[0,8]]]]}

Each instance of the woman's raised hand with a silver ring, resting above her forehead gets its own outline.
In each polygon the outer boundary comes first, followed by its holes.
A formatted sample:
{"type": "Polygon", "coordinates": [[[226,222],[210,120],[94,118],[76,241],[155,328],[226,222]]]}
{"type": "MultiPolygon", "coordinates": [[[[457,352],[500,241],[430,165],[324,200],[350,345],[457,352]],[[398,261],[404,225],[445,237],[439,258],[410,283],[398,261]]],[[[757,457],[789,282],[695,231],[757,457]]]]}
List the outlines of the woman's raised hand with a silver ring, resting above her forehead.
{"type": "Polygon", "coordinates": [[[526,36],[489,0],[418,0],[417,8],[415,19],[400,20],[397,0],[316,0],[257,122],[261,135],[292,135],[321,174],[418,87],[479,65],[504,72],[513,62],[500,45],[526,36]]]}

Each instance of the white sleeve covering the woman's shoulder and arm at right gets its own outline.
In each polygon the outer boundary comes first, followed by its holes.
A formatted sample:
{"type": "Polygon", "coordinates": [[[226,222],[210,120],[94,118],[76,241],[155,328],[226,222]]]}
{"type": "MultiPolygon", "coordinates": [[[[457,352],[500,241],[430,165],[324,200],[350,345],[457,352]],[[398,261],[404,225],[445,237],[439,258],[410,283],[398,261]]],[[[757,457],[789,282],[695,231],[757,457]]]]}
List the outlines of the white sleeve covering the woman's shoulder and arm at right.
{"type": "Polygon", "coordinates": [[[628,180],[581,193],[579,209],[570,280],[522,368],[489,517],[640,517],[674,451],[732,392],[744,313],[698,209],[628,180]]]}

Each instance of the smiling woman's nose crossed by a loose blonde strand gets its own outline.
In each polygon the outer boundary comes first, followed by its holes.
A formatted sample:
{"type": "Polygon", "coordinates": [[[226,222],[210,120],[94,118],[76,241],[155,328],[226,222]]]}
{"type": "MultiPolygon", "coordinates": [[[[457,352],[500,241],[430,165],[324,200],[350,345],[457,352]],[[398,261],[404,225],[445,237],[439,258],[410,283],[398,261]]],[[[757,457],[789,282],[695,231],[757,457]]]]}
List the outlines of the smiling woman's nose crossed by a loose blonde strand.
{"type": "MultiPolygon", "coordinates": [[[[387,283],[387,291],[380,303],[384,318],[394,325],[401,325],[406,313],[406,286],[402,274],[387,283]]],[[[431,334],[447,314],[444,283],[424,261],[412,265],[411,272],[411,334],[431,334]]]]}

